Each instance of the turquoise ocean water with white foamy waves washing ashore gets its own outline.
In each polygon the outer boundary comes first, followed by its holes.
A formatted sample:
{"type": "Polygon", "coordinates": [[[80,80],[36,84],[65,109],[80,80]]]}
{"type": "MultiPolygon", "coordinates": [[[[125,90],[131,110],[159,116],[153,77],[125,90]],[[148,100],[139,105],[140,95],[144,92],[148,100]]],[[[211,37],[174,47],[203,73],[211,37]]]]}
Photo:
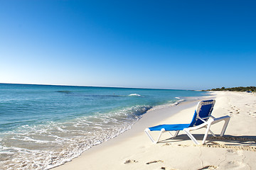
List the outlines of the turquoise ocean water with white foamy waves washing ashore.
{"type": "Polygon", "coordinates": [[[0,84],[1,169],[50,169],[202,91],[0,84]]]}

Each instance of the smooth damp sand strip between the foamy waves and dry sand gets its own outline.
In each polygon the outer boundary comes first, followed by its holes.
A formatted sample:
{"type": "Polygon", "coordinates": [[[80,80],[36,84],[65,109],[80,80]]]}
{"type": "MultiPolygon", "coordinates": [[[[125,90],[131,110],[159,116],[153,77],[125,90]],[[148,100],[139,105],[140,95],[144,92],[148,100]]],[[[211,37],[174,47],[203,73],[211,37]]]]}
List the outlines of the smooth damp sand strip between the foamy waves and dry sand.
{"type": "MultiPolygon", "coordinates": [[[[86,159],[86,157],[89,156],[90,154],[95,154],[97,152],[101,152],[102,149],[106,149],[108,147],[113,147],[114,145],[120,145],[120,144],[122,144],[122,142],[129,140],[132,137],[136,137],[136,136],[142,135],[142,134],[145,135],[144,134],[145,128],[148,128],[152,125],[157,125],[162,120],[168,119],[171,116],[173,116],[183,110],[190,109],[190,110],[194,111],[198,101],[204,100],[206,98],[215,98],[215,96],[213,96],[212,93],[209,93],[208,96],[196,96],[196,97],[186,97],[186,98],[189,98],[189,99],[188,100],[182,99],[181,101],[178,101],[178,103],[176,103],[176,104],[173,103],[172,105],[169,105],[169,106],[168,105],[167,106],[166,105],[159,106],[159,107],[156,106],[156,107],[149,109],[149,111],[146,111],[146,113],[144,113],[142,115],[142,118],[137,120],[137,122],[134,123],[132,125],[132,128],[130,128],[129,130],[126,130],[126,131],[122,132],[121,134],[117,135],[116,137],[113,137],[110,140],[102,142],[99,145],[90,147],[90,149],[85,150],[85,152],[82,152],[82,154],[80,156],[75,157],[70,162],[65,162],[65,164],[61,164],[61,165],[55,166],[50,169],[57,169],[57,170],[58,169],[69,169],[68,166],[70,166],[70,164],[77,164],[76,163],[77,161],[80,162],[80,159],[86,159]],[[161,113],[161,116],[159,116],[158,113],[161,113]]],[[[193,111],[192,111],[191,116],[193,116],[193,111]]],[[[188,121],[189,121],[188,123],[190,123],[190,120],[188,120],[188,121]]],[[[146,137],[146,135],[145,135],[145,137],[146,137]]]]}

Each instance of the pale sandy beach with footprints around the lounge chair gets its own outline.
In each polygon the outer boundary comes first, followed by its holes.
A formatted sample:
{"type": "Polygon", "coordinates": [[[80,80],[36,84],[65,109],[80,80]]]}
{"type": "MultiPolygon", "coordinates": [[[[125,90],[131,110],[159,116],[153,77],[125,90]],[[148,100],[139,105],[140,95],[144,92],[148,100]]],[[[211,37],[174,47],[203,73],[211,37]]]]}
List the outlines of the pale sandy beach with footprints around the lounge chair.
{"type": "MultiPolygon", "coordinates": [[[[55,169],[255,169],[256,94],[229,91],[212,94],[204,98],[216,100],[212,115],[230,116],[223,137],[208,135],[205,145],[194,145],[183,132],[173,139],[164,133],[158,144],[149,140],[145,128],[190,123],[198,101],[189,101],[149,111],[131,130],[55,169]]],[[[223,123],[217,123],[210,129],[219,135],[222,126],[223,123]]],[[[204,131],[192,134],[201,142],[204,131]]]]}

